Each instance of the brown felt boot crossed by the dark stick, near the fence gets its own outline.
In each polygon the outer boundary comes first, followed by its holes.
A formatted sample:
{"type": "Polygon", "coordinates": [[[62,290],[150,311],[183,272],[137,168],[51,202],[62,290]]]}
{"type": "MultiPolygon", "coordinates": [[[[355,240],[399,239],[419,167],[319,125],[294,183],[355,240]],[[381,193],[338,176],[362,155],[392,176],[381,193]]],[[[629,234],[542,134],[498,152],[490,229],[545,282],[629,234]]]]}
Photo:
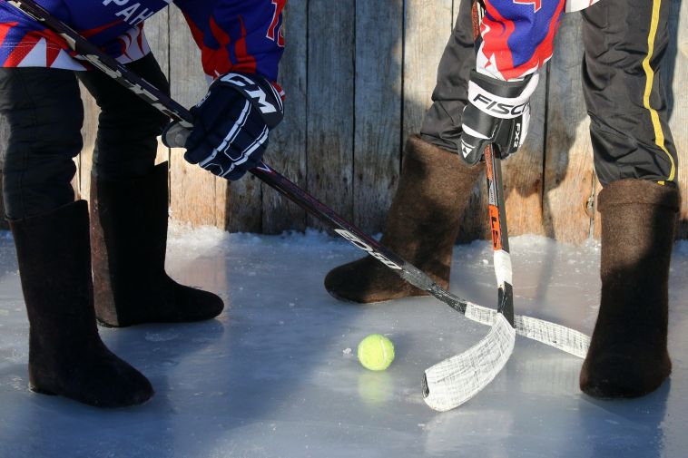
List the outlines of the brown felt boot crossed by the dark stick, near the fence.
{"type": "MultiPolygon", "coordinates": [[[[416,135],[409,137],[382,245],[447,288],[458,220],[482,170],[416,135]]],[[[331,270],[325,287],[333,297],[358,303],[428,294],[370,256],[331,270]]]]}

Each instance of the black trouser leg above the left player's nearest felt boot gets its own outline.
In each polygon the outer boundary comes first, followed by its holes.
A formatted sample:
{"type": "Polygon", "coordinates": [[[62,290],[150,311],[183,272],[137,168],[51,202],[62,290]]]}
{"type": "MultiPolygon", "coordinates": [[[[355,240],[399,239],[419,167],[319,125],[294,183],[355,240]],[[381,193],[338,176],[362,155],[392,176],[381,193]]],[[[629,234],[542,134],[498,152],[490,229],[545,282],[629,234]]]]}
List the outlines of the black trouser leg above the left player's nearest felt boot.
{"type": "Polygon", "coordinates": [[[32,217],[74,201],[73,158],[82,149],[84,122],[74,72],[0,69],[0,112],[10,125],[3,168],[7,217],[32,217]]]}

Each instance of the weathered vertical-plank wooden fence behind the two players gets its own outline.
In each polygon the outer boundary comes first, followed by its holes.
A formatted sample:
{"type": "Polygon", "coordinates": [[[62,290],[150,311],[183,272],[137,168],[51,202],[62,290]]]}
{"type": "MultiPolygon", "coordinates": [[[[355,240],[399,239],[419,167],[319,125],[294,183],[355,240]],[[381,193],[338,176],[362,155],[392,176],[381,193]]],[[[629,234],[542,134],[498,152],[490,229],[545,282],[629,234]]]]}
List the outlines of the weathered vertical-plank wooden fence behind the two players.
{"type": "MultiPolygon", "coordinates": [[[[398,183],[403,142],[418,132],[430,104],[439,57],[459,0],[289,0],[286,52],[280,83],[286,115],[271,133],[265,161],[370,233],[381,230],[398,183]]],[[[673,138],[685,163],[688,151],[688,5],[672,0],[672,43],[664,59],[673,138]]],[[[186,106],[206,90],[199,53],[175,8],[146,23],[153,53],[186,106]]],[[[566,15],[555,57],[532,99],[525,148],[505,162],[507,213],[512,234],[543,234],[580,243],[599,233],[593,170],[580,77],[580,15],[566,15]]],[[[74,181],[88,198],[96,108],[84,94],[84,152],[74,181]]],[[[6,139],[0,126],[0,142],[6,139]]],[[[1,146],[1,145],[0,145],[1,146]]],[[[172,218],[192,226],[280,233],[322,229],[252,176],[228,184],[190,166],[182,151],[161,147],[170,161],[172,218]]],[[[683,190],[685,174],[679,180],[683,190]]],[[[686,191],[683,191],[685,195],[686,191]]],[[[485,192],[471,197],[460,239],[487,237],[485,192]]],[[[679,237],[688,237],[683,199],[679,237]]]]}

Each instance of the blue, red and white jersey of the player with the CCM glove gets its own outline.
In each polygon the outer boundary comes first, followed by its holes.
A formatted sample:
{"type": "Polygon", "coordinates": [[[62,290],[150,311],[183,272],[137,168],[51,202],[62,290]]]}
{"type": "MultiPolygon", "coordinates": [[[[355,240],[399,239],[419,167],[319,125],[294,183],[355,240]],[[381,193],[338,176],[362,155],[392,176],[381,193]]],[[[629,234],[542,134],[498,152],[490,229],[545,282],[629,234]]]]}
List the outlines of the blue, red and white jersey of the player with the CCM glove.
{"type": "MultiPolygon", "coordinates": [[[[174,3],[201,49],[211,77],[259,73],[277,80],[284,47],[282,9],[286,0],[36,0],[121,63],[150,52],[143,22],[174,3]]],[[[0,0],[0,62],[4,67],[84,70],[64,39],[0,0]]]]}

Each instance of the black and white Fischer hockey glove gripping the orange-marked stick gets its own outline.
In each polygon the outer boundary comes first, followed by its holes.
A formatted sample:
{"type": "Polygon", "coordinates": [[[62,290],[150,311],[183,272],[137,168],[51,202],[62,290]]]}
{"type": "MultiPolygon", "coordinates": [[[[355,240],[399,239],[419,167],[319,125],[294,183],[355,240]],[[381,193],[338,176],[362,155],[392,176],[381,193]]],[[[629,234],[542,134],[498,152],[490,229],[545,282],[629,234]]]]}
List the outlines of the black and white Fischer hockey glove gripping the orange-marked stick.
{"type": "Polygon", "coordinates": [[[468,104],[464,108],[461,156],[469,165],[483,159],[485,147],[493,143],[500,159],[506,159],[526,141],[530,122],[530,96],[537,87],[537,73],[522,81],[502,81],[471,73],[468,104]]]}

